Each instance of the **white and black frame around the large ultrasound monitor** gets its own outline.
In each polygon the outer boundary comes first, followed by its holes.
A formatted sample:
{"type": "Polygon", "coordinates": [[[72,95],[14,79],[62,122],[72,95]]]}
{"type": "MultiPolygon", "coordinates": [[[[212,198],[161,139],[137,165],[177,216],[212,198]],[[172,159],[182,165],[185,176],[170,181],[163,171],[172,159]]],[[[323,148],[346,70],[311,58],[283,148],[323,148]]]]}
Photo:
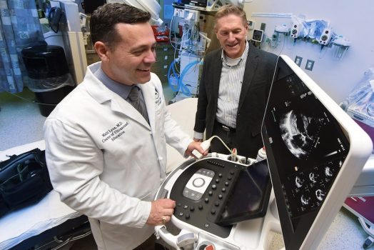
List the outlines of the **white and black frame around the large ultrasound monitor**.
{"type": "MultiPolygon", "coordinates": [[[[323,235],[328,230],[331,222],[338,213],[342,206],[346,196],[348,196],[352,186],[355,184],[355,180],[358,178],[365,162],[373,150],[373,144],[363,129],[361,129],[355,122],[345,114],[343,109],[340,109],[338,104],[328,96],[305,72],[296,65],[293,60],[288,56],[281,55],[278,58],[276,69],[278,69],[279,61],[282,60],[290,67],[303,83],[308,86],[308,89],[313,92],[315,97],[320,101],[323,106],[332,114],[332,116],[338,121],[340,128],[343,130],[346,138],[350,143],[350,149],[348,155],[341,166],[338,175],[336,176],[333,184],[330,187],[328,195],[325,197],[325,201],[318,210],[317,215],[313,221],[313,224],[307,230],[305,236],[295,234],[293,231],[290,217],[288,216],[288,210],[286,209],[285,203],[283,202],[283,191],[281,189],[281,179],[278,176],[278,171],[272,171],[276,169],[276,161],[271,154],[271,151],[267,151],[268,164],[271,172],[271,181],[273,184],[274,194],[276,198],[276,204],[278,208],[278,214],[281,222],[281,230],[283,239],[285,241],[285,247],[287,249],[316,249],[320,244],[323,235]],[[301,239],[300,239],[301,238],[301,239]],[[293,242],[293,243],[292,243],[293,242]]],[[[276,71],[273,76],[276,79],[276,71]]],[[[271,88],[272,89],[272,88],[271,88]]],[[[270,97],[271,95],[269,95],[270,97]]],[[[268,109],[268,104],[266,110],[268,109]]],[[[265,117],[264,117],[265,119],[265,117]]],[[[263,136],[264,145],[270,148],[270,142],[266,134],[266,126],[262,124],[261,134],[263,136]]],[[[306,214],[305,216],[308,216],[306,214]]]]}

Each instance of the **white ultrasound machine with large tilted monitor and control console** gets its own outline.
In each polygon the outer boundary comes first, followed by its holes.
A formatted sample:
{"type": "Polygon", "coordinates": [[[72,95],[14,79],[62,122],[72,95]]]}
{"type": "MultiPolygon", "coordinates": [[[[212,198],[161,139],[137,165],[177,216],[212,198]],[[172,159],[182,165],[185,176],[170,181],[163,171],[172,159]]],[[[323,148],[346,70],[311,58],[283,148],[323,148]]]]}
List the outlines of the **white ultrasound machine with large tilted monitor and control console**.
{"type": "MultiPolygon", "coordinates": [[[[176,201],[156,235],[175,249],[317,249],[373,144],[288,56],[278,58],[262,125],[267,160],[212,152],[188,159],[156,199],[176,201]]],[[[239,152],[240,154],[240,152],[239,152]]]]}

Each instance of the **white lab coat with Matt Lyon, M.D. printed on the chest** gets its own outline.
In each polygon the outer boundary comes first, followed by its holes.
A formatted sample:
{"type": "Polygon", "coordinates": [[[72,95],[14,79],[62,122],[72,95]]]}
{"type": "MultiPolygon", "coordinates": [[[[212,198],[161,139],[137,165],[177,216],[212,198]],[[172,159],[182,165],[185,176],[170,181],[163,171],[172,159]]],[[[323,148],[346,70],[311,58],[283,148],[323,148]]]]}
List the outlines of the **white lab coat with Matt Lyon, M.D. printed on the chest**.
{"type": "Polygon", "coordinates": [[[155,74],[141,85],[150,125],[98,81],[92,64],[82,84],[46,119],[46,161],[61,201],[89,216],[99,249],[133,249],[165,178],[166,142],[181,154],[191,143],[166,110],[155,74]]]}

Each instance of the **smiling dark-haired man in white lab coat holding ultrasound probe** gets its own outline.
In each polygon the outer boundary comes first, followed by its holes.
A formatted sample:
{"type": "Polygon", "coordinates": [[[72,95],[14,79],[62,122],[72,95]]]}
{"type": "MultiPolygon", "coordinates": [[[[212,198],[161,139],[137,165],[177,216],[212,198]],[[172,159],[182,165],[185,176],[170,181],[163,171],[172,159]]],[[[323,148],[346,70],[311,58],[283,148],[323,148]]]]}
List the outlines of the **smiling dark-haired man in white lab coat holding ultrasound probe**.
{"type": "Polygon", "coordinates": [[[175,201],[153,201],[166,176],[166,143],[186,156],[207,153],[166,110],[161,82],[150,72],[156,41],[149,19],[125,4],[99,7],[91,39],[101,62],[44,124],[54,189],[89,217],[98,249],[134,249],[171,219],[175,201]],[[131,104],[133,86],[146,114],[131,104]]]}

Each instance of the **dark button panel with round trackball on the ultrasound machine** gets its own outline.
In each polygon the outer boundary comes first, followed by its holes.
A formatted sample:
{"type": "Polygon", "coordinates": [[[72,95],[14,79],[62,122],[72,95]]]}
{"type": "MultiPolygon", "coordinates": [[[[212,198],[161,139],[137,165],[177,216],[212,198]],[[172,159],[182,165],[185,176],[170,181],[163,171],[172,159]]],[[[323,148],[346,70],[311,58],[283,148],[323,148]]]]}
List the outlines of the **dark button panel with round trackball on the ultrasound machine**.
{"type": "Polygon", "coordinates": [[[170,199],[176,201],[174,216],[222,238],[228,237],[232,226],[220,226],[216,222],[242,167],[224,159],[196,161],[178,176],[171,189],[170,199]]]}

